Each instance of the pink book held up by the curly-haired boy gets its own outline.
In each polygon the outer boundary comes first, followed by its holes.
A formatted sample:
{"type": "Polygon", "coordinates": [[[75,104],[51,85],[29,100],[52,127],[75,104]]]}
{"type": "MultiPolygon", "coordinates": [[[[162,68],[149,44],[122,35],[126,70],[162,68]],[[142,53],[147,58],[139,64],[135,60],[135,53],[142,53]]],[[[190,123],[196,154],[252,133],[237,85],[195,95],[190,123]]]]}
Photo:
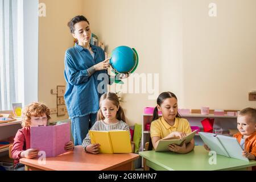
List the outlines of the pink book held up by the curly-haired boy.
{"type": "Polygon", "coordinates": [[[45,151],[47,158],[63,154],[67,152],[65,143],[70,141],[70,124],[31,127],[30,140],[31,148],[45,151]]]}

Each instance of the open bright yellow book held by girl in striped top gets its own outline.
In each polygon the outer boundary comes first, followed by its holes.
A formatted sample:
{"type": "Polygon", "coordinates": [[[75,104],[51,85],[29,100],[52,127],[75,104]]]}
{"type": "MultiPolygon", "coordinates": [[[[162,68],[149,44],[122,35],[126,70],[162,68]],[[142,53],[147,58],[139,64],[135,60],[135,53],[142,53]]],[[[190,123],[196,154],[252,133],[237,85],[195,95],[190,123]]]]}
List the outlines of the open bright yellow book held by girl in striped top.
{"type": "Polygon", "coordinates": [[[90,141],[92,144],[100,144],[100,152],[113,153],[131,153],[131,142],[129,131],[112,130],[112,131],[89,131],[90,141]]]}

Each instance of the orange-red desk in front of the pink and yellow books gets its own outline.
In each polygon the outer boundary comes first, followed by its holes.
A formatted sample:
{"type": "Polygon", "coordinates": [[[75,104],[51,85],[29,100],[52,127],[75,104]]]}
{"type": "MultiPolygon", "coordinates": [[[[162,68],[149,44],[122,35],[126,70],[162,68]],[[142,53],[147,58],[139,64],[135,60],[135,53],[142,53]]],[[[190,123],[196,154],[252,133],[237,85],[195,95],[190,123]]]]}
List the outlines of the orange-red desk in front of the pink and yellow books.
{"type": "Polygon", "coordinates": [[[46,158],[46,164],[39,164],[38,159],[20,159],[25,164],[27,171],[129,171],[133,161],[138,159],[138,154],[89,154],[82,146],[76,146],[69,151],[55,158],[46,158]]]}

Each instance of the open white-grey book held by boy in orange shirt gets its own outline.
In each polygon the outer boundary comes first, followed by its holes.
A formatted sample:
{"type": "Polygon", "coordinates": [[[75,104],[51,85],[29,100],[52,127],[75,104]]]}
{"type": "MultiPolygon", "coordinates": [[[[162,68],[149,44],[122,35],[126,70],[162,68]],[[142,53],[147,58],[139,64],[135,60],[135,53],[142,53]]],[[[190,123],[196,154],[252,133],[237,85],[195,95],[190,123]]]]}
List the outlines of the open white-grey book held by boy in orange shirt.
{"type": "Polygon", "coordinates": [[[229,158],[241,159],[249,162],[247,158],[242,156],[243,150],[236,138],[204,132],[199,132],[199,135],[204,143],[210,147],[210,150],[216,151],[218,155],[224,155],[229,158]]]}

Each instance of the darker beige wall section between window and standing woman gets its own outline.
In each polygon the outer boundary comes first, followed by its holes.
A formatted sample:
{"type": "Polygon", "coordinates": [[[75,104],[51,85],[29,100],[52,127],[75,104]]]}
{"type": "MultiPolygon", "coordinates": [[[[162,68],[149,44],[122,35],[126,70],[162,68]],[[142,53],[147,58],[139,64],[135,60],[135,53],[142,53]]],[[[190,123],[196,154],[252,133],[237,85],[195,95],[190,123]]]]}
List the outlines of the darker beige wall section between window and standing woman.
{"type": "MultiPolygon", "coordinates": [[[[56,95],[51,89],[65,85],[65,50],[73,46],[73,38],[67,23],[69,19],[82,13],[82,0],[40,0],[46,4],[46,16],[39,17],[39,69],[38,100],[50,108],[57,107],[56,95]]],[[[67,119],[51,115],[51,121],[67,119]]]]}

